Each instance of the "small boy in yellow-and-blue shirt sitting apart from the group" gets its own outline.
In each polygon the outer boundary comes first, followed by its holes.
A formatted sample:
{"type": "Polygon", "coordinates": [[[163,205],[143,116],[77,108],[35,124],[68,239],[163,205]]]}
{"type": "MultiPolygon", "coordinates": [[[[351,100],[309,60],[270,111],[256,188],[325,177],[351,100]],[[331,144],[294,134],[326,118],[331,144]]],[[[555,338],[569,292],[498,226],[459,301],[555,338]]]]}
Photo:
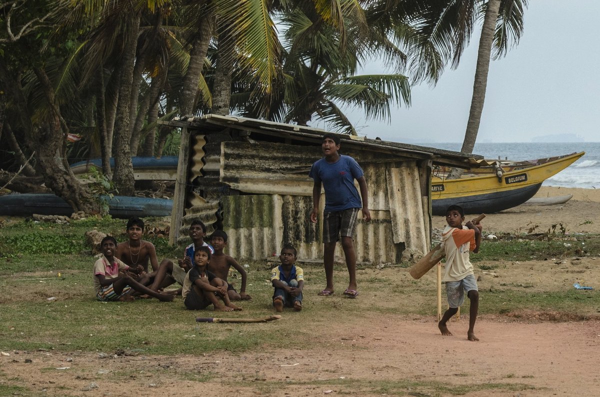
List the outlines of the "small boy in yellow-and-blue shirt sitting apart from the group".
{"type": "Polygon", "coordinates": [[[285,244],[281,248],[279,260],[281,264],[271,270],[271,283],[275,287],[273,306],[275,311],[282,312],[283,306],[302,310],[302,288],[304,288],[304,272],[296,262],[297,251],[293,245],[285,244]]]}

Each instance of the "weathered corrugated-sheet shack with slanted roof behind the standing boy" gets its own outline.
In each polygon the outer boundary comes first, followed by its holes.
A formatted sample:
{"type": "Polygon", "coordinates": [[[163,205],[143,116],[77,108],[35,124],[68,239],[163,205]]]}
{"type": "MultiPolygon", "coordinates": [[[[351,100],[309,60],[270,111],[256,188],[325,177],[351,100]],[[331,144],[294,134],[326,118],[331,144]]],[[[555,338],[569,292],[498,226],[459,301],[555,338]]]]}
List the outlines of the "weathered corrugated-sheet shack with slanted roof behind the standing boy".
{"type": "MultiPolygon", "coordinates": [[[[190,148],[179,158],[170,242],[188,241],[191,219],[200,218],[208,234],[215,228],[227,232],[227,252],[236,258],[269,257],[284,242],[298,248],[301,260],[322,258],[322,222],[309,219],[308,172],[322,157],[328,131],[215,115],[165,124],[182,128],[182,142],[189,139],[190,148]]],[[[346,135],[340,153],[354,157],[365,172],[373,219],[362,222],[359,216],[355,246],[357,260],[372,264],[426,253],[432,164],[473,165],[458,152],[346,135]]],[[[336,255],[343,255],[339,246],[336,255]]]]}

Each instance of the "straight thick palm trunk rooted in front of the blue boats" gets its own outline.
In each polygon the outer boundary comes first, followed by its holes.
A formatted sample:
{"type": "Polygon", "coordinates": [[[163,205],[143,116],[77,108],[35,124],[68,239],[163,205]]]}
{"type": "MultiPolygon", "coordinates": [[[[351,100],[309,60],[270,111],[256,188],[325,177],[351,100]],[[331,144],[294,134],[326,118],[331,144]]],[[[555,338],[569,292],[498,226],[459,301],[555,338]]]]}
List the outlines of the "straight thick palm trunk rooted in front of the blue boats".
{"type": "Polygon", "coordinates": [[[131,94],[133,71],[136,61],[137,36],[140,28],[140,13],[133,17],[125,31],[125,48],[122,53],[121,77],[119,79],[119,103],[115,122],[115,172],[113,182],[122,196],[133,196],[134,178],[131,163],[131,94]]]}

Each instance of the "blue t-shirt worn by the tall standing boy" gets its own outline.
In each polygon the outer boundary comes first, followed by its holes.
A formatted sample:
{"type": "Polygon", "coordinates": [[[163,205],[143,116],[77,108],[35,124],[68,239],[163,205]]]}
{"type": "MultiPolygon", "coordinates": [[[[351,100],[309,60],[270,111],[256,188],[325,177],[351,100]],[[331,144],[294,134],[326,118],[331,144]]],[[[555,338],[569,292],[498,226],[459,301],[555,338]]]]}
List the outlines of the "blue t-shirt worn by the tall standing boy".
{"type": "Polygon", "coordinates": [[[346,155],[340,155],[340,160],[333,164],[329,164],[325,158],[317,160],[308,174],[315,182],[322,183],[325,189],[325,210],[329,212],[362,207],[354,180],[363,175],[356,160],[346,155]]]}

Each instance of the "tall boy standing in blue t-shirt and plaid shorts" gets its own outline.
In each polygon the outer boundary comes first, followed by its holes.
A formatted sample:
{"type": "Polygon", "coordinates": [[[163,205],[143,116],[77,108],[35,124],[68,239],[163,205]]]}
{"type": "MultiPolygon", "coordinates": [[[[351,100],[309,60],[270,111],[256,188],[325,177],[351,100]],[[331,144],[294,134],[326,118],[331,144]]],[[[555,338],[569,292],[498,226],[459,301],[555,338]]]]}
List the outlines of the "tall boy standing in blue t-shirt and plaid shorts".
{"type": "Polygon", "coordinates": [[[334,293],[334,252],[335,243],[340,239],[346,257],[346,266],[350,276],[350,282],[344,295],[355,298],[358,296],[356,285],[356,254],[352,235],[356,225],[356,215],[362,207],[362,218],[371,220],[368,209],[367,181],[361,167],[350,156],[340,155],[340,137],[335,134],[323,136],[324,158],[316,161],[310,170],[310,178],[313,178],[313,212],[310,219],[317,222],[319,211],[319,200],[321,197],[321,186],[325,189],[325,210],[323,211],[323,263],[325,264],[325,277],[327,285],[319,292],[321,296],[329,296],[334,293]],[[354,186],[354,180],[358,181],[361,189],[354,186]],[[361,200],[362,197],[362,200],[361,200]]]}

